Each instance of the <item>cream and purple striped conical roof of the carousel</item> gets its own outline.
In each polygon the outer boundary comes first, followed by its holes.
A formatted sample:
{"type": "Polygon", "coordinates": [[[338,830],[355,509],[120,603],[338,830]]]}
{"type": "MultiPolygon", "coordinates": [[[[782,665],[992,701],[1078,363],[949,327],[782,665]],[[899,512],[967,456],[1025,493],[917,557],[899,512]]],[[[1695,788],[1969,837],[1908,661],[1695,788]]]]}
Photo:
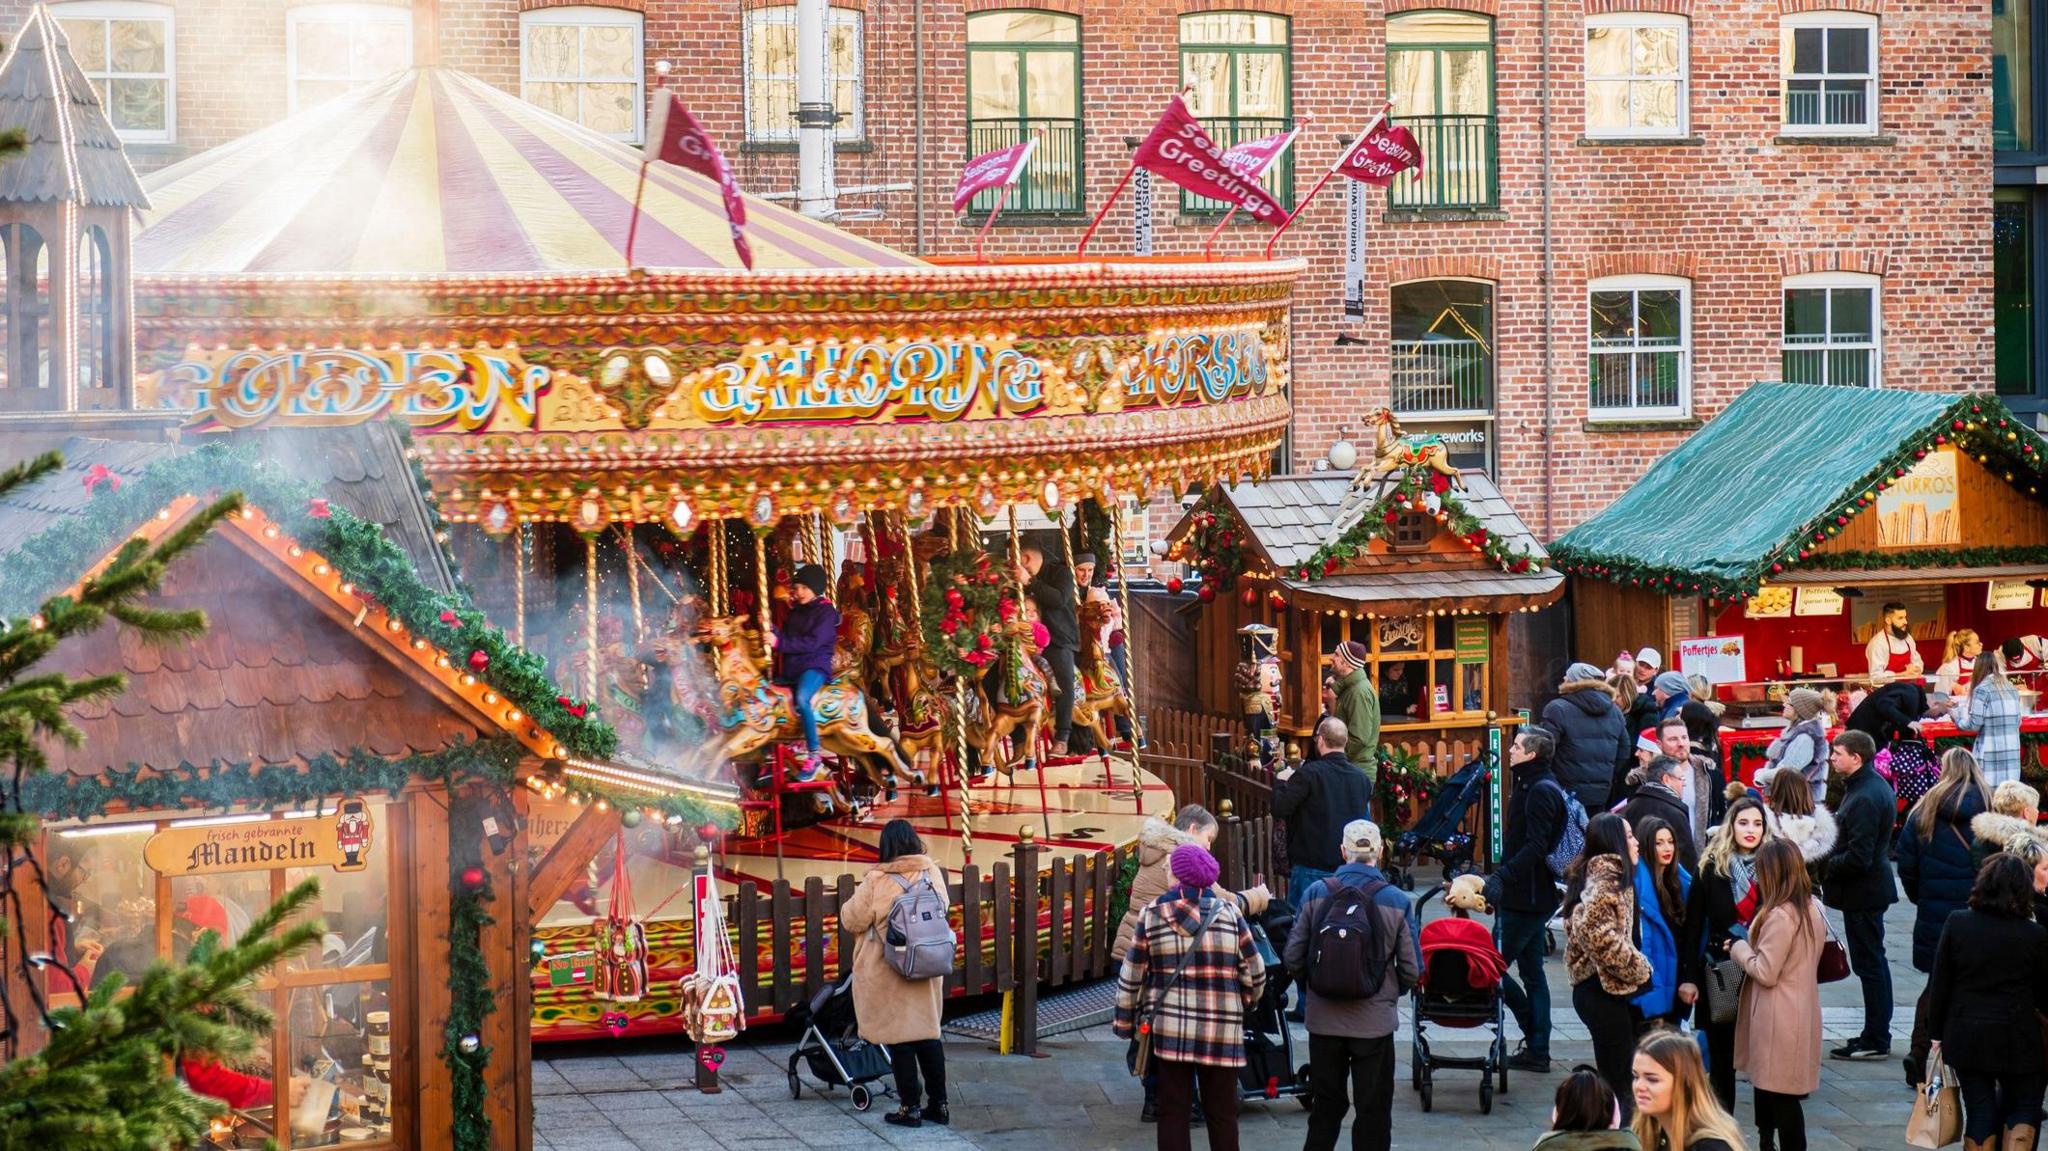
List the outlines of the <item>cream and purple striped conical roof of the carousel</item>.
{"type": "MultiPolygon", "coordinates": [[[[616,272],[639,162],[473,76],[418,68],[150,176],[135,272],[616,272]]],[[[713,180],[657,164],[641,209],[641,266],[739,266],[713,180]]],[[[748,240],[756,268],[918,262],[752,197],[748,240]]]]}

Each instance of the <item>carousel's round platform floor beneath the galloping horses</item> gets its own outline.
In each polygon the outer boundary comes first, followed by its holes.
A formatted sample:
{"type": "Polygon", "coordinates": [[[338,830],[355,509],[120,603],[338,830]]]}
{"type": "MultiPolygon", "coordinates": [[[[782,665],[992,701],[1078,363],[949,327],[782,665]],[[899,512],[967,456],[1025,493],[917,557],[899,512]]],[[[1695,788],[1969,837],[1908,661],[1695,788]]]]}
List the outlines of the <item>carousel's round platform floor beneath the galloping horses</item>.
{"type": "Polygon", "coordinates": [[[938,799],[903,788],[895,803],[874,805],[862,819],[834,819],[782,836],[780,852],[772,836],[727,840],[719,858],[721,877],[772,885],[788,879],[803,887],[807,879],[825,885],[842,875],[860,875],[874,862],[874,844],[891,819],[909,819],[926,850],[950,875],[967,866],[987,868],[1012,858],[1020,829],[1030,827],[1038,842],[1040,866],[1071,854],[1110,852],[1139,838],[1147,815],[1171,815],[1174,793],[1130,760],[1118,756],[1104,764],[1100,756],[1073,764],[1044,768],[1044,799],[1036,772],[991,776],[971,786],[965,797],[971,817],[961,815],[961,791],[938,799]],[[1137,772],[1133,776],[1133,772],[1137,772]],[[1137,778],[1137,788],[1133,788],[1137,778]]]}

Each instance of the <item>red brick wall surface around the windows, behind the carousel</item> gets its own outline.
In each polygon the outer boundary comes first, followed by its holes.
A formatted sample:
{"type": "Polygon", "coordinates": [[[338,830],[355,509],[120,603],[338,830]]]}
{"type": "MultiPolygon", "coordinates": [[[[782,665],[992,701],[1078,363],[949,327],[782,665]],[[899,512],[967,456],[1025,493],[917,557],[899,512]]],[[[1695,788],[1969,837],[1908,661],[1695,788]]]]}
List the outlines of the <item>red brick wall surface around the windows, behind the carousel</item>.
{"type": "MultiPolygon", "coordinates": [[[[539,0],[526,0],[535,6],[539,0]]],[[[948,209],[965,160],[965,14],[987,0],[848,0],[864,12],[868,141],[838,152],[838,184],[918,176],[915,76],[924,76],[924,227],[909,193],[844,197],[870,219],[848,225],[926,254],[971,250],[973,227],[948,209]],[[922,45],[922,61],[918,59],[922,45]]],[[[518,88],[520,0],[444,0],[442,63],[518,88]]],[[[741,4],[643,0],[649,70],[676,63],[674,84],[727,150],[750,190],[795,188],[793,152],[748,150],[741,113],[741,4]]],[[[1010,4],[997,4],[1010,6],[1010,4]]],[[[1047,4],[1081,16],[1087,205],[1108,197],[1128,156],[1178,84],[1174,4],[1047,4]]],[[[1235,6],[1235,4],[1231,4],[1235,6]]],[[[1804,270],[1882,272],[1884,385],[1991,385],[1991,18],[1954,0],[1841,0],[1827,8],[1880,18],[1880,137],[1855,145],[1778,137],[1778,25],[1815,0],[1264,0],[1292,18],[1292,104],[1315,125],[1298,143],[1303,176],[1384,92],[1389,10],[1464,8],[1495,18],[1499,211],[1489,219],[1389,219],[1368,193],[1364,317],[1341,315],[1341,188],[1333,186],[1282,242],[1303,256],[1294,315],[1294,465],[1317,459],[1343,424],[1386,401],[1389,285],[1479,276],[1495,285],[1495,391],[1501,489],[1546,537],[1606,506],[1686,426],[1587,426],[1585,283],[1612,272],[1692,276],[1692,410],[1712,416],[1757,379],[1778,377],[1780,283],[1804,270]],[[1544,360],[1542,283],[1542,12],[1550,14],[1552,352],[1544,360]],[[1587,12],[1688,14],[1690,139],[1671,145],[1589,143],[1583,135],[1581,41],[1587,12]],[[1337,338],[1350,336],[1339,346],[1337,338]],[[1548,428],[1548,446],[1546,446],[1548,428]]],[[[0,0],[0,25],[25,12],[0,0]]],[[[285,16],[274,0],[176,0],[178,143],[137,150],[139,168],[233,139],[283,115],[285,16]]],[[[651,76],[649,76],[651,82],[651,76]]],[[[1341,182],[1341,180],[1339,180],[1341,182]]],[[[1157,250],[1196,252],[1208,221],[1180,221],[1161,188],[1157,250]]],[[[1069,252],[1079,223],[997,227],[991,254],[1069,252]]],[[[1128,246],[1120,207],[1098,250],[1128,246]]],[[[1223,250],[1253,252],[1266,229],[1233,227],[1223,250]]],[[[1796,463],[1796,457],[1794,457],[1796,463]]]]}

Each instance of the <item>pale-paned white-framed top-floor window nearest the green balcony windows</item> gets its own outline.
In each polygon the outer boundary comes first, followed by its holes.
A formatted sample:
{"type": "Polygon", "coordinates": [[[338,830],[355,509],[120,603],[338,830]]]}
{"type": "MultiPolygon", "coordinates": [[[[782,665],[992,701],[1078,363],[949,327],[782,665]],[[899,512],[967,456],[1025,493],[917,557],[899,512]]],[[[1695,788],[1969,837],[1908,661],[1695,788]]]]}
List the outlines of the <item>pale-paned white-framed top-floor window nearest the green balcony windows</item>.
{"type": "Polygon", "coordinates": [[[1585,18],[1585,135],[1686,135],[1688,31],[1659,12],[1585,18]]]}

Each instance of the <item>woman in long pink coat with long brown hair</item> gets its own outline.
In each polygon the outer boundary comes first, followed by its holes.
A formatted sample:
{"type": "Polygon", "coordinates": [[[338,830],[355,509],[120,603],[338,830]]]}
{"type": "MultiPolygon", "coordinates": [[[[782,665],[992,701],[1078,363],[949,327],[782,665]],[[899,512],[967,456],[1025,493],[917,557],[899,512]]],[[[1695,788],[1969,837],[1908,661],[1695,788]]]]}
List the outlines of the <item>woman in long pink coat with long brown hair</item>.
{"type": "Polygon", "coordinates": [[[1759,1151],[1806,1151],[1800,1100],[1821,1085],[1821,946],[1827,920],[1806,858],[1786,840],[1757,848],[1757,913],[1729,956],[1743,965],[1735,1065],[1757,1092],[1759,1151]]]}

